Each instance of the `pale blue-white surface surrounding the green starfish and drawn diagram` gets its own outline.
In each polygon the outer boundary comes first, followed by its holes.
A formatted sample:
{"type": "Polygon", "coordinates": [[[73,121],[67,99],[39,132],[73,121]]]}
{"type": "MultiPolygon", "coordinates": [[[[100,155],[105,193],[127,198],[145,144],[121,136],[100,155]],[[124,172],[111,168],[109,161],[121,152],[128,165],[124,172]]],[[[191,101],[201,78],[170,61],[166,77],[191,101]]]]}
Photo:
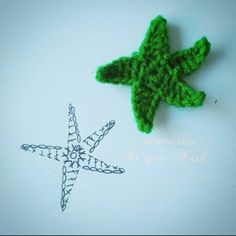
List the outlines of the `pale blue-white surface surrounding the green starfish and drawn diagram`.
{"type": "Polygon", "coordinates": [[[0,1],[0,233],[236,233],[235,1],[0,1]],[[140,133],[130,88],[95,81],[97,66],[137,50],[157,15],[171,51],[202,35],[212,51],[186,78],[201,108],[160,104],[140,133]],[[117,124],[97,149],[123,175],[81,171],[60,209],[61,164],[20,150],[65,145],[67,109],[81,134],[117,124]]]}

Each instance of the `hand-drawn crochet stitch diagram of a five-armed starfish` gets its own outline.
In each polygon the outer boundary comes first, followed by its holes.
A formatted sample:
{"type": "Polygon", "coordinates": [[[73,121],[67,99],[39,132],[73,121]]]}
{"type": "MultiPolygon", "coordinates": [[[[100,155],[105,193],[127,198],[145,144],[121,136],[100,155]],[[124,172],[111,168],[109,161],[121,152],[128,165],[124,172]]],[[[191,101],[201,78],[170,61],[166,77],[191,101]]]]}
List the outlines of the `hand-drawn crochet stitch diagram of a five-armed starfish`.
{"type": "Polygon", "coordinates": [[[76,121],[75,108],[70,104],[68,113],[68,139],[67,146],[50,146],[23,144],[21,149],[31,153],[38,153],[40,156],[47,157],[63,163],[62,185],[61,185],[61,209],[66,209],[72,188],[81,169],[90,170],[104,174],[123,174],[125,170],[118,166],[108,165],[91,155],[100,144],[105,135],[115,125],[112,120],[104,125],[100,130],[93,132],[84,140],[81,140],[78,123],[76,121]],[[81,142],[85,144],[82,146],[81,142]]]}

